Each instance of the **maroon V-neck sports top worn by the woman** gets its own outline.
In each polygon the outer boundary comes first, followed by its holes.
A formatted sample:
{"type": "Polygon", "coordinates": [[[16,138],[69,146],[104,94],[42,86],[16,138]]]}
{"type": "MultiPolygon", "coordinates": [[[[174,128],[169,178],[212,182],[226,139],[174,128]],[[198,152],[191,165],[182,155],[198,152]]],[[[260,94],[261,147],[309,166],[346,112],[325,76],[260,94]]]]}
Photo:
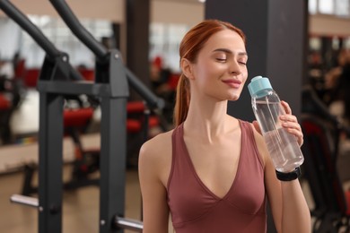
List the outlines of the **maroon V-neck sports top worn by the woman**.
{"type": "MultiPolygon", "coordinates": [[[[172,134],[168,204],[177,233],[266,232],[264,170],[248,122],[241,121],[241,155],[236,177],[223,198],[197,176],[183,139],[183,125],[172,134]]],[[[232,143],[233,144],[233,143],[232,143]]]]}

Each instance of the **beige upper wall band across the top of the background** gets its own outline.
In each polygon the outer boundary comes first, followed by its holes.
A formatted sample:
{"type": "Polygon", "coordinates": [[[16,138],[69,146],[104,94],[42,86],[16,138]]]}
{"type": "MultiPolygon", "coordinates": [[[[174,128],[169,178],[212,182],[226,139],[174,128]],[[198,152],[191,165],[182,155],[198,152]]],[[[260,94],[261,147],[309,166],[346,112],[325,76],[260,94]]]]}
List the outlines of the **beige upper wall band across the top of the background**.
{"type": "MultiPolygon", "coordinates": [[[[11,0],[24,13],[57,16],[48,0],[11,0]]],[[[105,19],[125,22],[125,0],[67,0],[78,18],[105,19]],[[83,3],[83,4],[82,4],[83,3]]],[[[0,15],[4,14],[0,11],[0,15]]],[[[152,0],[151,22],[197,24],[205,17],[205,4],[152,0]]],[[[350,36],[350,19],[328,15],[312,15],[311,35],[350,36]]]]}

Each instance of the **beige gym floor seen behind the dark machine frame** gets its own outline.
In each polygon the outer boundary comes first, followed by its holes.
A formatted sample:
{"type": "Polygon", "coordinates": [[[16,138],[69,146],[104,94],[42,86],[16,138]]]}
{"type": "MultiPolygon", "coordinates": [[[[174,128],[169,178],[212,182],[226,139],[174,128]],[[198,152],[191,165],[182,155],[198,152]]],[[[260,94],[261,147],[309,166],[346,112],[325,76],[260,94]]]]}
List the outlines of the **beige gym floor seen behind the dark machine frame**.
{"type": "MultiPolygon", "coordinates": [[[[69,166],[65,174],[69,175],[69,166]]],[[[10,203],[12,194],[22,190],[22,173],[13,173],[0,177],[0,231],[4,233],[38,232],[38,211],[34,208],[10,203]]],[[[96,233],[99,232],[99,193],[97,186],[81,187],[65,191],[63,196],[62,232],[96,233]]],[[[136,170],[127,171],[126,213],[127,218],[140,220],[141,196],[136,170]]],[[[132,231],[125,231],[132,232],[132,231]]]]}

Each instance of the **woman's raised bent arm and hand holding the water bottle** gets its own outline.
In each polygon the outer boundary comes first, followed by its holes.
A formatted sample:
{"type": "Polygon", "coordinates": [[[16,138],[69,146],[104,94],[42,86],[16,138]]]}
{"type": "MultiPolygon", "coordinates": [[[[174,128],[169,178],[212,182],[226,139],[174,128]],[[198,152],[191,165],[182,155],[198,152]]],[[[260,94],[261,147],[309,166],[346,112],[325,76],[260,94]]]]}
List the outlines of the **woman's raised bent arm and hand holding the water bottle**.
{"type": "MultiPolygon", "coordinates": [[[[295,135],[302,145],[303,134],[297,118],[292,115],[289,105],[282,101],[286,115],[281,116],[283,126],[295,135]]],[[[257,128],[257,123],[254,124],[257,128]]],[[[258,131],[259,133],[259,131],[258,131]]],[[[311,232],[311,213],[306,203],[299,180],[279,181],[276,169],[270,159],[265,142],[260,134],[256,135],[258,149],[265,161],[265,184],[267,196],[278,232],[311,232]]]]}

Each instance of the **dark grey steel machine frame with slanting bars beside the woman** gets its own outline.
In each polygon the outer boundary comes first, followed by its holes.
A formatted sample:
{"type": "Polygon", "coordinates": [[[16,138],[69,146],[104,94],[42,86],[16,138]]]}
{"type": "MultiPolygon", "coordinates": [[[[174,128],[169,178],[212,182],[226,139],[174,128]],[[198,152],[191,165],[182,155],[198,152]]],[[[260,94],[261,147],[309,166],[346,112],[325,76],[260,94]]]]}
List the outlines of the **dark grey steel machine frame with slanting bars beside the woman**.
{"type": "Polygon", "coordinates": [[[52,4],[74,34],[95,54],[95,82],[76,82],[82,79],[69,65],[68,55],[53,47],[13,4],[0,1],[4,13],[26,30],[47,54],[37,85],[40,97],[39,200],[33,206],[39,210],[39,232],[62,231],[62,188],[57,187],[63,186],[63,103],[65,95],[78,94],[101,99],[100,232],[123,232],[118,223],[125,210],[128,84],[145,99],[148,108],[162,109],[164,102],[122,65],[118,50],[107,51],[84,30],[65,2],[52,1],[52,4]]]}

